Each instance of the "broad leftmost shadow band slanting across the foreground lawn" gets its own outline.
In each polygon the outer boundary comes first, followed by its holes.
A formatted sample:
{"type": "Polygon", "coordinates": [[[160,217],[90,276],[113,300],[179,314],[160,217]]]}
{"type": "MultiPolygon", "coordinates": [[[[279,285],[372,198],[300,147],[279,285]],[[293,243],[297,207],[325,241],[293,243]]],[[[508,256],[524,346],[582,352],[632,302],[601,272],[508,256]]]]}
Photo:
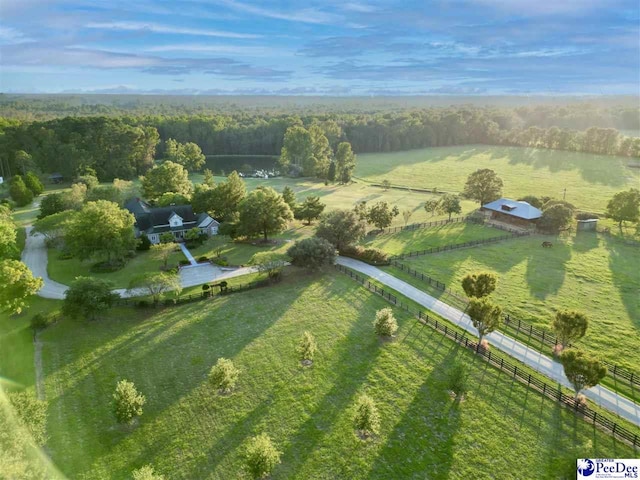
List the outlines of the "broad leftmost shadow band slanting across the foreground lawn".
{"type": "MultiPolygon", "coordinates": [[[[55,438],[54,432],[52,440],[59,448],[59,458],[56,460],[62,462],[61,467],[68,474],[78,474],[78,471],[71,472],[68,467],[65,468],[65,465],[69,465],[67,462],[72,462],[75,467],[84,470],[89,466],[85,462],[105,457],[130,437],[139,439],[140,434],[136,433],[139,429],[143,430],[147,425],[153,425],[167,409],[180,399],[188,397],[195,388],[206,382],[209,369],[219,357],[234,358],[246,345],[275,323],[280,315],[274,312],[286,312],[304,291],[306,282],[298,282],[297,285],[299,288],[296,285],[283,284],[225,297],[224,306],[217,302],[210,304],[220,307],[215,308],[212,315],[201,315],[203,309],[206,311],[207,302],[175,307],[171,310],[170,318],[161,321],[152,335],[145,335],[140,329],[144,324],[139,325],[137,331],[132,332],[132,338],[125,340],[114,351],[107,351],[94,360],[95,365],[90,370],[83,368],[81,374],[76,372],[69,375],[81,375],[81,378],[75,381],[72,388],[60,389],[61,394],[50,403],[50,412],[55,412],[58,416],[75,417],[76,442],[82,443],[83,450],[97,452],[98,455],[97,458],[86,460],[78,458],[81,452],[73,454],[66,451],[72,448],[66,433],[58,432],[62,438],[55,438]],[[288,295],[277,295],[274,291],[276,289],[286,289],[288,295]],[[249,308],[246,302],[247,295],[252,296],[251,305],[262,306],[262,315],[242,316],[243,308],[249,308]],[[111,394],[117,380],[121,378],[133,381],[148,399],[140,426],[133,431],[118,428],[111,415],[111,394]],[[85,414],[72,413],[77,410],[84,410],[85,414]],[[88,414],[87,411],[93,413],[88,414]],[[100,435],[96,432],[100,432],[100,435]]],[[[122,327],[111,328],[109,335],[120,334],[122,330],[131,328],[127,325],[126,319],[107,321],[122,327]]],[[[100,328],[99,325],[92,327],[100,328]]],[[[93,338],[91,337],[92,340],[93,338]]],[[[95,345],[99,346],[101,343],[108,343],[104,335],[95,336],[95,345]]],[[[57,349],[64,348],[64,345],[57,345],[57,349]]],[[[166,425],[166,422],[164,424],[166,425]]],[[[183,433],[181,429],[184,427],[176,424],[168,429],[163,437],[180,437],[183,433]]],[[[156,437],[150,435],[150,438],[156,437]]],[[[148,452],[153,452],[155,448],[162,450],[156,443],[154,440],[149,447],[140,447],[139,443],[138,448],[148,452]]],[[[141,444],[144,445],[144,441],[141,444]]]]}

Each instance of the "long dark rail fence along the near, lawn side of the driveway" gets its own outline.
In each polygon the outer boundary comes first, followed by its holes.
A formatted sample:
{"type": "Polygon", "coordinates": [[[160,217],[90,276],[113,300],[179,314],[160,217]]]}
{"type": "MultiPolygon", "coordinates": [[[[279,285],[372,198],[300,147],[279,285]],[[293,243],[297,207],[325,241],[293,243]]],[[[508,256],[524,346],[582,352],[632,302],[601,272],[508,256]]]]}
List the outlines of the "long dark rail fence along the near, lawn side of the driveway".
{"type": "MultiPolygon", "coordinates": [[[[395,295],[389,293],[388,291],[385,291],[375,284],[372,284],[365,277],[358,275],[352,270],[349,270],[342,265],[336,265],[336,268],[340,272],[345,273],[352,279],[356,280],[369,291],[380,295],[382,298],[389,301],[393,305],[415,315],[418,318],[418,323],[420,325],[429,326],[435,331],[458,343],[459,345],[462,345],[469,350],[473,350],[494,367],[499,368],[503,372],[507,372],[514,379],[523,384],[526,384],[530,388],[533,388],[545,397],[557,401],[560,405],[575,412],[576,415],[584,417],[594,425],[611,433],[614,437],[620,438],[633,445],[634,447],[640,447],[640,434],[622,427],[603,414],[598,413],[597,411],[589,408],[579,401],[576,401],[576,399],[572,395],[563,393],[560,385],[552,385],[543,382],[535,376],[532,376],[530,373],[528,373],[526,368],[523,368],[522,366],[518,367],[517,364],[512,363],[510,360],[505,360],[506,357],[502,356],[501,354],[495,354],[492,353],[491,350],[483,348],[478,344],[478,340],[475,337],[473,339],[470,339],[466,333],[461,333],[458,329],[449,326],[448,322],[442,322],[437,319],[431,318],[429,317],[429,315],[427,315],[426,313],[422,313],[420,310],[414,311],[409,305],[403,303],[402,301],[399,301],[395,295]]],[[[407,333],[407,335],[409,335],[409,333],[411,333],[411,330],[407,333]]]]}

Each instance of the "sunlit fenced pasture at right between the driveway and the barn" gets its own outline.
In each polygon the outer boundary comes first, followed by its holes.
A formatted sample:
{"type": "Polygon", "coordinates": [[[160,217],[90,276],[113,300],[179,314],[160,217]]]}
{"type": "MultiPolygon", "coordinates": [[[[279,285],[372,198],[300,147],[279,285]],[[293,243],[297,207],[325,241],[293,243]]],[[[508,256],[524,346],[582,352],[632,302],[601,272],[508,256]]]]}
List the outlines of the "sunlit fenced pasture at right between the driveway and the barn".
{"type": "MultiPolygon", "coordinates": [[[[637,246],[590,232],[560,238],[528,237],[407,258],[404,263],[463,293],[461,279],[478,271],[498,275],[492,297],[514,318],[550,328],[555,312],[589,317],[578,346],[640,370],[640,252],[637,246]],[[552,240],[553,248],[542,248],[552,240]]],[[[391,268],[390,273],[397,269],[391,268]]],[[[418,288],[423,284],[402,277],[418,288]]]]}

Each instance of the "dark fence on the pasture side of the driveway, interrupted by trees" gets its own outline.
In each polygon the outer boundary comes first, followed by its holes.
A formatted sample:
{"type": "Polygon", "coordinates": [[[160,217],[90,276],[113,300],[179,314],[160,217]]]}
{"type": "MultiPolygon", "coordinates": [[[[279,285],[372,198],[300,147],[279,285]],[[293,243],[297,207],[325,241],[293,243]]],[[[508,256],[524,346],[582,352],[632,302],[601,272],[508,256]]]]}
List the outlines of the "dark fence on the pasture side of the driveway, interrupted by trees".
{"type": "MultiPolygon", "coordinates": [[[[450,288],[447,288],[444,283],[436,280],[433,277],[430,277],[429,275],[425,275],[424,273],[419,272],[407,265],[404,265],[397,260],[392,260],[391,265],[399,268],[403,272],[408,273],[412,277],[428,283],[432,287],[449,294],[456,300],[458,306],[466,306],[469,302],[467,298],[459,295],[450,288]]],[[[500,330],[507,333],[514,333],[516,337],[521,334],[527,335],[529,338],[533,338],[539,341],[541,345],[548,346],[550,348],[553,348],[560,343],[553,332],[545,330],[544,328],[535,327],[531,323],[513,318],[509,314],[506,314],[504,316],[504,321],[500,326],[500,330]]],[[[570,346],[571,344],[567,345],[567,347],[570,346]]],[[[619,365],[614,365],[613,363],[607,362],[606,360],[601,360],[601,363],[607,366],[607,375],[622,380],[632,387],[640,387],[640,374],[632,372],[631,370],[628,370],[619,365]]]]}

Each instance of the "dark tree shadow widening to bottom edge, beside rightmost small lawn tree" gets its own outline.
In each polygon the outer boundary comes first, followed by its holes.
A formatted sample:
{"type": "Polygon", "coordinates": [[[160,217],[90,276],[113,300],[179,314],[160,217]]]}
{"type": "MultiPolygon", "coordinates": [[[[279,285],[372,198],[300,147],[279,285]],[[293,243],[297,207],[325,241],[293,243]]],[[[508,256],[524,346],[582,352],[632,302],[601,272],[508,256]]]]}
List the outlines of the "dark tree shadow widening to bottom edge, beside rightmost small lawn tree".
{"type": "Polygon", "coordinates": [[[424,478],[449,478],[461,404],[451,399],[446,376],[458,354],[459,348],[450,346],[434,366],[388,435],[368,478],[416,478],[418,472],[424,478]]]}

